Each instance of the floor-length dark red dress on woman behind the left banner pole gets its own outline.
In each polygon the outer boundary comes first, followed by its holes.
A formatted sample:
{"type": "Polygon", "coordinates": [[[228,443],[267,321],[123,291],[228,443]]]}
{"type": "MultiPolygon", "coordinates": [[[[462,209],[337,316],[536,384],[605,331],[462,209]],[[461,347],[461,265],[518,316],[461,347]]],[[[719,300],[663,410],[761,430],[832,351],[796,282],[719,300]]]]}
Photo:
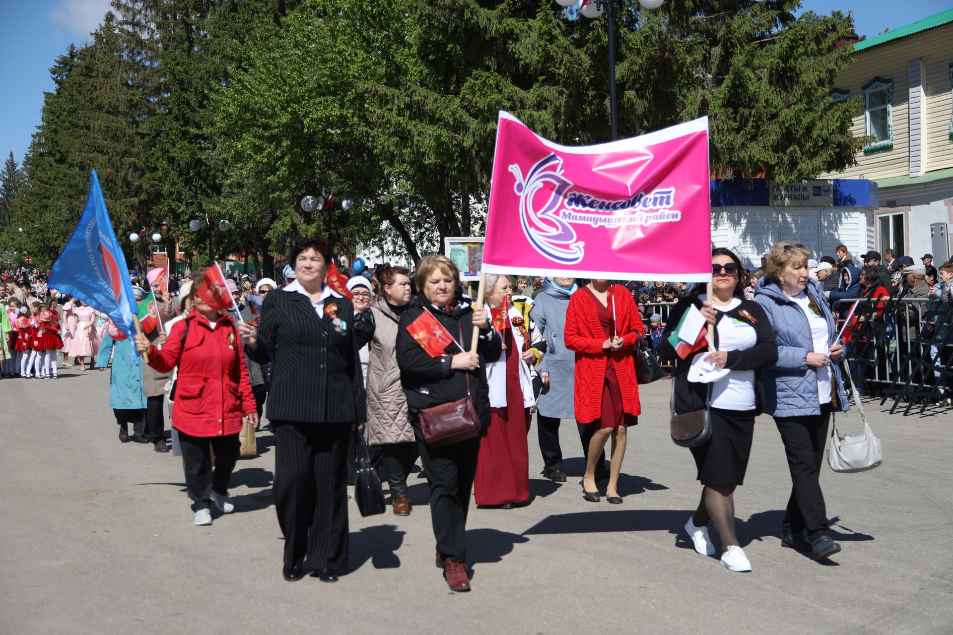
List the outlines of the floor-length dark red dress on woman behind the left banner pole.
{"type": "Polygon", "coordinates": [[[522,503],[530,499],[530,457],[526,435],[533,415],[523,407],[519,365],[509,321],[499,333],[506,345],[506,407],[490,408],[491,423],[480,440],[474,478],[476,505],[522,503]]]}

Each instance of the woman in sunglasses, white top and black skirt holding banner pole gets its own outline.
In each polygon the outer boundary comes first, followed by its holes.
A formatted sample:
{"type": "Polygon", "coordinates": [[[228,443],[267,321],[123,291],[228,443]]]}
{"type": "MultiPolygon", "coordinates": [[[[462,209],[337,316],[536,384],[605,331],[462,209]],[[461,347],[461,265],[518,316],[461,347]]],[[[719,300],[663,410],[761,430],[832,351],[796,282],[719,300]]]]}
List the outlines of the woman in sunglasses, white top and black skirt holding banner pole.
{"type": "MultiPolygon", "coordinates": [[[[744,299],[740,282],[741,262],[725,248],[712,250],[712,295],[684,297],[672,309],[662,336],[661,356],[675,360],[676,350],[668,335],[678,326],[681,316],[691,307],[700,308],[707,324],[715,325],[715,352],[707,348],[679,359],[673,390],[675,411],[679,414],[703,409],[711,388],[711,439],[692,447],[703,486],[701,501],[695,514],[685,523],[685,531],[701,555],[714,556],[715,546],[708,537],[708,521],[721,538],[724,550],[721,565],[732,571],[750,571],[751,563],[735,535],[734,492],[744,481],[751,453],[755,417],[763,403],[760,389],[760,367],[778,360],[775,333],[764,309],[754,300],[744,299]],[[716,369],[728,369],[711,383],[688,381],[688,370],[698,356],[716,369]]],[[[696,287],[704,289],[702,286],[696,287]]],[[[700,360],[701,361],[701,360],[700,360]]]]}

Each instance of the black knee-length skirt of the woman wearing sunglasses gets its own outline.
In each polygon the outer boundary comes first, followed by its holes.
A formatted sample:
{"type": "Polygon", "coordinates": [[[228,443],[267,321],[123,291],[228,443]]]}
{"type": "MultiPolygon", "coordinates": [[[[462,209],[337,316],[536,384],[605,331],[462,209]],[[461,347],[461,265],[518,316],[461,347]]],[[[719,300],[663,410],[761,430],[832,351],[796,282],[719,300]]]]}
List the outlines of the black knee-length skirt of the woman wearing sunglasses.
{"type": "Polygon", "coordinates": [[[692,447],[701,485],[744,484],[751,440],[755,434],[755,411],[712,409],[712,438],[704,446],[692,447]]]}

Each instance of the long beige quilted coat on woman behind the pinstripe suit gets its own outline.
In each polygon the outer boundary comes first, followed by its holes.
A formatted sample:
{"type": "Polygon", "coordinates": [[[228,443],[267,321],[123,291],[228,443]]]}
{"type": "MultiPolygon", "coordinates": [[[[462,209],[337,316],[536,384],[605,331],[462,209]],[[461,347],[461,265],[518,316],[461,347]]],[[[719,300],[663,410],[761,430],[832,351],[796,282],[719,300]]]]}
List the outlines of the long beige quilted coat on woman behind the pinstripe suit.
{"type": "Polygon", "coordinates": [[[371,446],[414,441],[407,419],[407,398],[400,386],[396,341],[399,318],[383,297],[374,305],[375,331],[367,371],[367,443],[371,446]]]}

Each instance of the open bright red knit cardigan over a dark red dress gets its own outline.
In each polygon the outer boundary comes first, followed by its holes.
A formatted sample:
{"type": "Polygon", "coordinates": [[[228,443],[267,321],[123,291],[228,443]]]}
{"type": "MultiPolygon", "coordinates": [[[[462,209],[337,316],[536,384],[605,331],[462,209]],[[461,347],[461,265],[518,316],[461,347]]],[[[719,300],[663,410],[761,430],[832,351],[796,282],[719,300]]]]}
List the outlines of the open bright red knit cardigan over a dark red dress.
{"type": "MultiPolygon", "coordinates": [[[[609,292],[609,310],[616,303],[616,331],[625,341],[621,350],[612,352],[618,387],[622,392],[622,409],[629,414],[641,413],[639,385],[632,347],[636,346],[636,332],[644,334],[645,327],[632,294],[622,285],[613,285],[609,292]]],[[[598,321],[596,300],[579,289],[569,298],[566,309],[564,339],[566,347],[576,351],[576,420],[582,423],[596,421],[602,415],[602,383],[605,379],[605,331],[598,321]]]]}

